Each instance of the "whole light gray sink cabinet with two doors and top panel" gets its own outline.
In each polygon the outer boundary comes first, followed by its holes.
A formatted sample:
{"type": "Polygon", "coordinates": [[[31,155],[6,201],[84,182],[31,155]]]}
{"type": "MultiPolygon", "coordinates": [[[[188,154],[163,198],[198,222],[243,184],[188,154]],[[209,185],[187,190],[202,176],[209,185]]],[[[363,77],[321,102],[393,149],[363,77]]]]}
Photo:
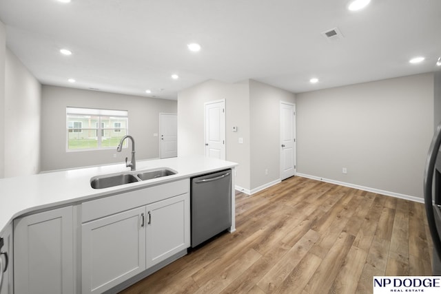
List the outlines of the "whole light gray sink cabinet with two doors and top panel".
{"type": "Polygon", "coordinates": [[[189,180],[81,204],[82,293],[103,293],[190,246],[189,180]]]}

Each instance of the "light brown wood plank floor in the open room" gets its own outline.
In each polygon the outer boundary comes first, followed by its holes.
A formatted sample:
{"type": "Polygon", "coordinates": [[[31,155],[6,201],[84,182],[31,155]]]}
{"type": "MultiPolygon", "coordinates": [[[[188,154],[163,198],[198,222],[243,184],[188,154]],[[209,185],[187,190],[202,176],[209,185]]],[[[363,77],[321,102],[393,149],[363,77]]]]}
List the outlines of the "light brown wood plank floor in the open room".
{"type": "Polygon", "coordinates": [[[293,177],[237,193],[236,228],[122,293],[372,293],[374,275],[431,275],[417,202],[293,177]]]}

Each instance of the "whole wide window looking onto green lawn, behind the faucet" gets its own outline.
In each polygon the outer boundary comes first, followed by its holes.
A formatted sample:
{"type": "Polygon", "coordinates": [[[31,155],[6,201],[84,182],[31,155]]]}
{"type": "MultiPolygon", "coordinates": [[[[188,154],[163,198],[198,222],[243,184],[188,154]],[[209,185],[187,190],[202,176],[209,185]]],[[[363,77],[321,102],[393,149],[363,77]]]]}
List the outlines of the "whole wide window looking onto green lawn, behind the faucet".
{"type": "Polygon", "coordinates": [[[67,151],[116,148],[128,130],[125,110],[66,107],[67,151]]]}

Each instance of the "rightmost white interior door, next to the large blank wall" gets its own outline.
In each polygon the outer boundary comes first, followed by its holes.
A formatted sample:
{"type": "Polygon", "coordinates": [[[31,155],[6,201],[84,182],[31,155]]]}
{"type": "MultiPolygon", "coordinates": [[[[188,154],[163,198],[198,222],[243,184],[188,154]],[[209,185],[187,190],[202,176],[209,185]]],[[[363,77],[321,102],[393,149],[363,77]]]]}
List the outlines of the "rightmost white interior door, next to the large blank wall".
{"type": "Polygon", "coordinates": [[[296,105],[280,102],[280,180],[296,174],[296,105]]]}

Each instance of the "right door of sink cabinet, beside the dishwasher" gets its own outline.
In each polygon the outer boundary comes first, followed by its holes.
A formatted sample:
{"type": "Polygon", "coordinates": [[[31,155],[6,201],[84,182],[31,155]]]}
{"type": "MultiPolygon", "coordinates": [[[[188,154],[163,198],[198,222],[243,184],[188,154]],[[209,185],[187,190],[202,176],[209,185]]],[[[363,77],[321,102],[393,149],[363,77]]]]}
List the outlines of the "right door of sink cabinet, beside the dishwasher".
{"type": "Polygon", "coordinates": [[[149,204],[146,211],[149,268],[189,247],[189,193],[149,204]]]}

